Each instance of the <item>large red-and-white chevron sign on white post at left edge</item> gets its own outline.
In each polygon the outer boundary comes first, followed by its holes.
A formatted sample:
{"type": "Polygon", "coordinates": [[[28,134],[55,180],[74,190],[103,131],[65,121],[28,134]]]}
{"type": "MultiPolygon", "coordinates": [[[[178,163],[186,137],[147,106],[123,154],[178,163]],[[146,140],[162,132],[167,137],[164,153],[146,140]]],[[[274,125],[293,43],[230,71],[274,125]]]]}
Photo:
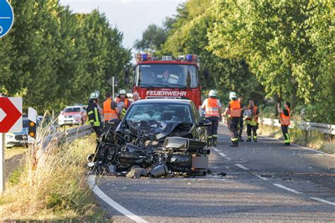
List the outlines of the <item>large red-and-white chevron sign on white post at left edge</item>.
{"type": "MultiPolygon", "coordinates": [[[[0,0],[1,2],[2,0],[0,0]]],[[[0,193],[5,191],[6,134],[22,131],[22,98],[0,97],[0,193]]]]}

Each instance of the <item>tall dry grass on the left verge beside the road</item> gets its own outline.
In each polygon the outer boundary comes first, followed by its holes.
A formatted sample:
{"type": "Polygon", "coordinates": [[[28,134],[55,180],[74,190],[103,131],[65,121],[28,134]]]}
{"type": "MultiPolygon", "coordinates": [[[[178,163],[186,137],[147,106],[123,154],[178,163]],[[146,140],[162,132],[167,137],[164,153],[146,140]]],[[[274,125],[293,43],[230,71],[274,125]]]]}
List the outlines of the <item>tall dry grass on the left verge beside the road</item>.
{"type": "MultiPolygon", "coordinates": [[[[48,132],[37,135],[43,138],[48,132]]],[[[86,185],[86,156],[95,148],[93,138],[64,143],[60,136],[42,144],[30,145],[24,166],[8,180],[0,197],[0,220],[102,221],[103,212],[86,185]]]]}

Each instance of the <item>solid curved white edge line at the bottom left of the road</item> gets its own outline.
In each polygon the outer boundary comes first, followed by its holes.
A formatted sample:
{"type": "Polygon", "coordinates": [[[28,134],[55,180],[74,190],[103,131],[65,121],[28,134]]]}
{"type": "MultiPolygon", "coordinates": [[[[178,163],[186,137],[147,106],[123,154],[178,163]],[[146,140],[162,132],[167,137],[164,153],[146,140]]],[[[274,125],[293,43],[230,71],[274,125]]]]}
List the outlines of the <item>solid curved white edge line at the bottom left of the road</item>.
{"type": "Polygon", "coordinates": [[[100,188],[97,185],[95,185],[95,177],[96,177],[95,175],[90,175],[88,176],[87,181],[88,181],[88,186],[92,188],[92,191],[96,195],[98,195],[99,198],[101,198],[103,201],[105,201],[105,203],[107,203],[108,205],[113,207],[115,210],[120,212],[122,215],[125,215],[126,217],[129,217],[130,219],[132,219],[134,222],[147,222],[146,220],[142,219],[141,217],[135,215],[134,213],[127,210],[126,208],[122,207],[121,205],[116,203],[114,200],[112,200],[112,198],[108,197],[105,193],[103,193],[100,190],[100,188]]]}

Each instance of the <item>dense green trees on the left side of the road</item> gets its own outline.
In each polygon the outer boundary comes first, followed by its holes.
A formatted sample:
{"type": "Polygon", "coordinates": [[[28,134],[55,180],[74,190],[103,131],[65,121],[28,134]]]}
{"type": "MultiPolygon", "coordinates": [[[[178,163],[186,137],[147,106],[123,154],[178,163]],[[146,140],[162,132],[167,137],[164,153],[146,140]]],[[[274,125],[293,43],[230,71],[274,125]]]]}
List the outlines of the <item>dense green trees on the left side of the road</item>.
{"type": "Polygon", "coordinates": [[[0,91],[22,96],[24,107],[62,109],[104,93],[130,61],[122,32],[103,13],[75,14],[58,0],[12,0],[15,20],[0,39],[0,91]]]}

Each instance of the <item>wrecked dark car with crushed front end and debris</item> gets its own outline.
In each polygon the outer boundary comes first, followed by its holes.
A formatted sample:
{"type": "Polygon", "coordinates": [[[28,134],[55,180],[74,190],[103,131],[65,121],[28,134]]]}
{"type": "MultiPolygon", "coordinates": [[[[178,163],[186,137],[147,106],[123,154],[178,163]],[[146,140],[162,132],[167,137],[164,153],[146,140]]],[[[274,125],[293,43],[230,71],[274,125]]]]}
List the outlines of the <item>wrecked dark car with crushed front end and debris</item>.
{"type": "Polygon", "coordinates": [[[203,176],[208,171],[206,127],[190,100],[134,102],[120,123],[101,135],[88,166],[96,174],[145,169],[149,176],[203,176]]]}

